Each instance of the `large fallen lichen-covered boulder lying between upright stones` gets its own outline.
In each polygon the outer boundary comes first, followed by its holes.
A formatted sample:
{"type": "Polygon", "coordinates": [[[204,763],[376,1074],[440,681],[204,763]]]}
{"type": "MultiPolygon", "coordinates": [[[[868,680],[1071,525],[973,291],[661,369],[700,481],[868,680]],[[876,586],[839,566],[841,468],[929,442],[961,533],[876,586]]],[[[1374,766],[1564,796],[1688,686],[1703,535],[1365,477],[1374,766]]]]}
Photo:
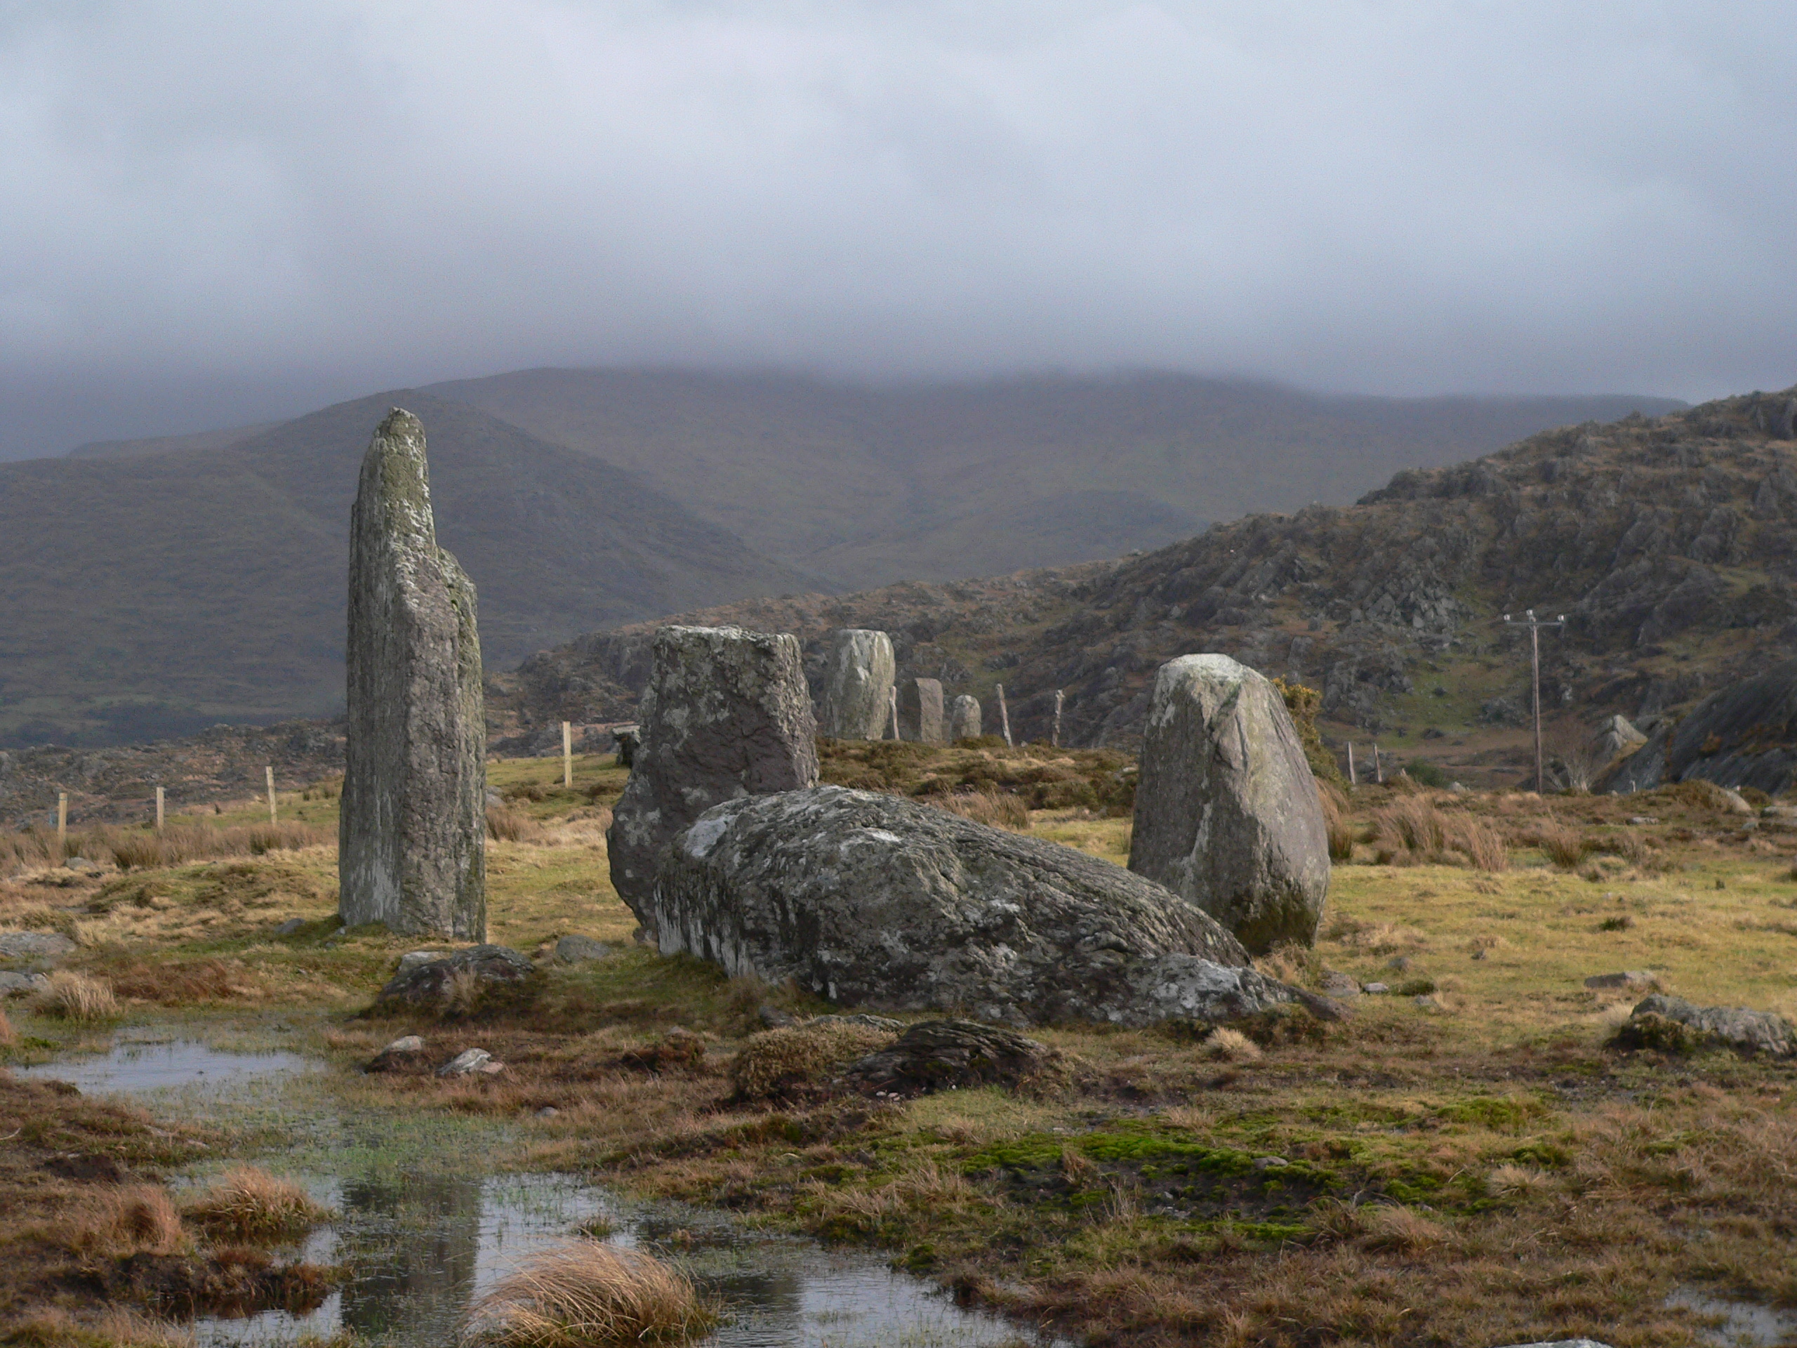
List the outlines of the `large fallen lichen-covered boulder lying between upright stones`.
{"type": "Polygon", "coordinates": [[[1299,999],[1141,875],[845,787],[706,811],[652,902],[663,954],[881,1010],[1148,1024],[1299,999]]]}

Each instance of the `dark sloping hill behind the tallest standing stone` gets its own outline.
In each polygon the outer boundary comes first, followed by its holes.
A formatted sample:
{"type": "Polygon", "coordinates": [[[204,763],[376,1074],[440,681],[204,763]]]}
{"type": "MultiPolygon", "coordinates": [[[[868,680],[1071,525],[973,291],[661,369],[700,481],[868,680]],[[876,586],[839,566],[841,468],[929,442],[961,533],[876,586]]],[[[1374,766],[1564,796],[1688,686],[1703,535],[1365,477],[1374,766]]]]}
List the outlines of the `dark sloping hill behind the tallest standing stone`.
{"type": "Polygon", "coordinates": [[[568,636],[814,588],[634,473],[465,403],[379,394],[230,448],[0,464],[0,744],[104,744],[343,697],[349,509],[392,404],[492,669],[568,636]]]}

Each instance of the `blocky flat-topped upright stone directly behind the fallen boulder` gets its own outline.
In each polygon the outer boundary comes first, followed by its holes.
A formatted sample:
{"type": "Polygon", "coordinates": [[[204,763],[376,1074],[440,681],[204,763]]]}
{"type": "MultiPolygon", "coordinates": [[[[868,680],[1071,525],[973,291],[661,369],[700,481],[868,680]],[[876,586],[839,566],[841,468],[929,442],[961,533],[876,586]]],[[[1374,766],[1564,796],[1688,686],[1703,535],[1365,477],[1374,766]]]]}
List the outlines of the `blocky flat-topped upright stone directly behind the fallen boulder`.
{"type": "Polygon", "coordinates": [[[611,884],[654,940],[649,893],[670,839],[722,800],[818,782],[798,642],[742,627],[663,627],[640,728],[606,839],[611,884]]]}

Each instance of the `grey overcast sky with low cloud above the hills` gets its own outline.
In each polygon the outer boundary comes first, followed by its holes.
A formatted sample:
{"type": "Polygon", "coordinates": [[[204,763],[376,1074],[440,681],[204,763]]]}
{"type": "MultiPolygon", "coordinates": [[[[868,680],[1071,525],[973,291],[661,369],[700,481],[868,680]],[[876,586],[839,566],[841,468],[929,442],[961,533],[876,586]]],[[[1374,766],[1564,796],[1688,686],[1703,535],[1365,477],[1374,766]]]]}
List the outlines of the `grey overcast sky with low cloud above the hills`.
{"type": "Polygon", "coordinates": [[[1797,5],[0,0],[0,457],[530,365],[1797,381],[1797,5]]]}

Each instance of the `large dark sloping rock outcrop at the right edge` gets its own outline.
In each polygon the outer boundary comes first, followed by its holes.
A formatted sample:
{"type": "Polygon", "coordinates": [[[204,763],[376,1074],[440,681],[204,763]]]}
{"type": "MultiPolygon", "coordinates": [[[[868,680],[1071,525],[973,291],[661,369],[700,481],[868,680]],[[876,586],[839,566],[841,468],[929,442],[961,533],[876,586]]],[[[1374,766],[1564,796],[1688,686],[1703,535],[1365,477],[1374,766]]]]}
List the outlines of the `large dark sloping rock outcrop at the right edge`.
{"type": "Polygon", "coordinates": [[[1718,688],[1677,724],[1655,730],[1598,789],[1648,791],[1695,778],[1768,796],[1790,789],[1797,780],[1797,661],[1718,688]]]}

